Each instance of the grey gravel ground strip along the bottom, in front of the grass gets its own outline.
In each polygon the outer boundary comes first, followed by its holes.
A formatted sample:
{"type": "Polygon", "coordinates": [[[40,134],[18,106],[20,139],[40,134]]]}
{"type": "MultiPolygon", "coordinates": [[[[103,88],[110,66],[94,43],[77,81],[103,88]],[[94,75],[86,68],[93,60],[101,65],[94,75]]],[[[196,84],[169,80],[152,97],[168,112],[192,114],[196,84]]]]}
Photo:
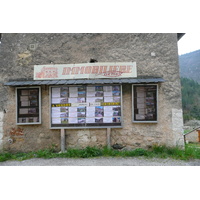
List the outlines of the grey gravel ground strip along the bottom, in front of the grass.
{"type": "Polygon", "coordinates": [[[0,166],[200,166],[200,160],[173,160],[158,158],[33,158],[24,161],[0,162],[0,166]]]}

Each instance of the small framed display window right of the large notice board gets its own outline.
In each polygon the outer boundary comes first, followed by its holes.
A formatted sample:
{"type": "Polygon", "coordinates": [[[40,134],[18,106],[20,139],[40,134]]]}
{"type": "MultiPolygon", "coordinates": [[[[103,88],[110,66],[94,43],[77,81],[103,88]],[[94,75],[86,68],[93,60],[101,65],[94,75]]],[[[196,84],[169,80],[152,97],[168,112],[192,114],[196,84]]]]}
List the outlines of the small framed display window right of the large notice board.
{"type": "Polygon", "coordinates": [[[133,85],[133,122],[157,122],[157,85],[133,85]]]}

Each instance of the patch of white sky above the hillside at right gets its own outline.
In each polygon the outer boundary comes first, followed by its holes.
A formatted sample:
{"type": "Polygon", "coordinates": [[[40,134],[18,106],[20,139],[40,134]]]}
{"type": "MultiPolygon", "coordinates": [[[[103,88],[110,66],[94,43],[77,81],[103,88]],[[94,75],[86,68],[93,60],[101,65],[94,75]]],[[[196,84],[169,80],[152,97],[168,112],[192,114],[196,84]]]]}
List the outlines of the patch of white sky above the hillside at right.
{"type": "Polygon", "coordinates": [[[183,55],[200,49],[200,33],[186,33],[178,41],[178,53],[183,55]]]}

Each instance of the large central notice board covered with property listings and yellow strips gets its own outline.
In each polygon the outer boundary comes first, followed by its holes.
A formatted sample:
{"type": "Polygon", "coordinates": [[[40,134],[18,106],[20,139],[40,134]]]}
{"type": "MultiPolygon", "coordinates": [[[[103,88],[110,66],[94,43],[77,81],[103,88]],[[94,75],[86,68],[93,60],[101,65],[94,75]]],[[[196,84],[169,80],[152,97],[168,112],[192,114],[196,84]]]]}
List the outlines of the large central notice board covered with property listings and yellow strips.
{"type": "Polygon", "coordinates": [[[50,87],[51,128],[122,127],[121,85],[50,87]]]}

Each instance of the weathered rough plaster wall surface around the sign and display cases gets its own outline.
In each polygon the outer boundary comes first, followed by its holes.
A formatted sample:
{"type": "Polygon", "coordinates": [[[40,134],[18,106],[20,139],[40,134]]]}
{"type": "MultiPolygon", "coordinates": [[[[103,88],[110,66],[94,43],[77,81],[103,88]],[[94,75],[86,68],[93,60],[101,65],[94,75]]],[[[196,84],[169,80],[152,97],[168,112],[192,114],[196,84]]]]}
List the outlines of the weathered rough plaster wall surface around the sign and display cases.
{"type": "MultiPolygon", "coordinates": [[[[60,131],[49,129],[48,87],[42,87],[42,125],[16,126],[15,89],[3,83],[9,79],[33,78],[33,66],[37,64],[85,63],[91,58],[98,62],[135,61],[138,75],[166,80],[159,84],[159,120],[155,124],[132,123],[131,85],[123,85],[124,128],[112,129],[112,144],[119,143],[127,148],[183,144],[176,34],[3,34],[0,111],[6,110],[4,148],[29,151],[51,144],[59,148],[60,131]],[[13,143],[9,144],[12,130],[21,131],[21,135],[12,136],[13,143]]],[[[68,147],[104,146],[106,130],[67,130],[66,143],[68,147]]]]}

